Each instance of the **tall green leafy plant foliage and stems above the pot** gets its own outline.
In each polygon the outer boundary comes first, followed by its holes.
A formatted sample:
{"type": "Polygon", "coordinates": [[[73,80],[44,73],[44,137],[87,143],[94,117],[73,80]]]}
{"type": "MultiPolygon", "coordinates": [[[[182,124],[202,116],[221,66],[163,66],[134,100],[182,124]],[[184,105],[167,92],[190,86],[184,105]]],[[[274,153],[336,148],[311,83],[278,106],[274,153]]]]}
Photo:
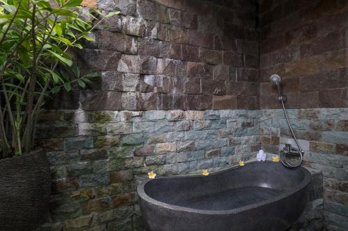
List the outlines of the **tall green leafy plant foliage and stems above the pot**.
{"type": "Polygon", "coordinates": [[[96,76],[81,76],[70,51],[93,41],[90,31],[118,12],[104,15],[81,1],[0,0],[0,158],[33,150],[47,97],[96,76]]]}

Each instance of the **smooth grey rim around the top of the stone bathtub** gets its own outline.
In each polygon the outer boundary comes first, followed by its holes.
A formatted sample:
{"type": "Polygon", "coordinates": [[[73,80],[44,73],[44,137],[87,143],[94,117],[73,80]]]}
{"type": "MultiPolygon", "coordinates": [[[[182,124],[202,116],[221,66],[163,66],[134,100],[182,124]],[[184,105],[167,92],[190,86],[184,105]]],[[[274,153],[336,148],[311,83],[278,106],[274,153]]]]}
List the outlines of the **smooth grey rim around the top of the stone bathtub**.
{"type": "MultiPolygon", "coordinates": [[[[276,164],[275,162],[272,161],[255,161],[255,162],[248,162],[245,165],[252,165],[252,164],[264,164],[264,163],[273,163],[276,164]]],[[[280,163],[278,163],[280,164],[280,163]]],[[[225,171],[232,171],[233,169],[239,169],[242,168],[243,166],[230,166],[226,169],[221,169],[219,171],[214,171],[212,173],[209,173],[209,176],[214,176],[219,173],[223,173],[225,171]]],[[[207,214],[207,215],[223,215],[223,214],[237,214],[239,212],[244,212],[249,209],[255,209],[257,207],[261,207],[263,205],[275,203],[278,200],[282,200],[284,198],[287,198],[291,196],[292,194],[295,194],[297,191],[300,191],[301,189],[305,188],[311,181],[311,174],[310,171],[308,171],[306,168],[303,166],[296,167],[296,169],[301,169],[301,171],[304,173],[304,178],[303,180],[297,185],[296,187],[290,189],[289,191],[284,192],[283,194],[279,194],[278,196],[275,196],[274,198],[269,198],[267,200],[262,200],[258,203],[253,203],[251,205],[245,205],[242,207],[237,207],[235,209],[224,209],[224,210],[207,210],[207,209],[193,209],[190,207],[183,207],[179,205],[171,205],[168,203],[161,202],[159,200],[155,200],[154,198],[148,196],[148,194],[145,193],[145,185],[150,182],[151,180],[156,180],[156,179],[145,179],[142,180],[141,183],[137,187],[137,192],[139,194],[139,197],[143,200],[145,200],[147,203],[150,203],[155,206],[159,207],[164,207],[165,209],[170,209],[170,210],[175,210],[175,211],[181,211],[181,212],[189,212],[189,213],[195,213],[195,214],[207,214]]],[[[208,176],[208,177],[209,177],[208,176]]],[[[203,177],[201,174],[187,174],[187,175],[178,175],[178,176],[160,176],[157,177],[159,178],[196,178],[196,177],[203,177]]]]}

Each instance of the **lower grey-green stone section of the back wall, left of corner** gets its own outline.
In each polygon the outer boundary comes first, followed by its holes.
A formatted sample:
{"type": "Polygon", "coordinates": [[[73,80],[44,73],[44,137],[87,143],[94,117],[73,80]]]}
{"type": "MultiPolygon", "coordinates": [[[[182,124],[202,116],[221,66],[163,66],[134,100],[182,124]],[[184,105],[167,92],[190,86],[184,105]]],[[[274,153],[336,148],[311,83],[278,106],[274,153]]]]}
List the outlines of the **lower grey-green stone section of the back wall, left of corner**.
{"type": "Polygon", "coordinates": [[[41,230],[142,230],[136,183],[214,171],[260,149],[258,111],[47,111],[37,143],[52,170],[41,230]]]}

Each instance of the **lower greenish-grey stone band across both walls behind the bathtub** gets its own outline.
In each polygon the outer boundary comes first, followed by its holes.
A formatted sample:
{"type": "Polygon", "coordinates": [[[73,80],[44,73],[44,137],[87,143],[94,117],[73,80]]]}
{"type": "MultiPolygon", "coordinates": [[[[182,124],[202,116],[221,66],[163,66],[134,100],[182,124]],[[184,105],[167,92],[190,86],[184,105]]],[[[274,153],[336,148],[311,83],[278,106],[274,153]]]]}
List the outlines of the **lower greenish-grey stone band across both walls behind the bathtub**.
{"type": "MultiPolygon", "coordinates": [[[[306,152],[322,171],[296,228],[347,228],[348,108],[289,110],[306,152]],[[318,183],[320,185],[320,183],[318,183]],[[321,189],[321,188],[320,188],[321,189]],[[320,197],[319,193],[322,193],[320,197]]],[[[158,175],[223,169],[293,144],[282,110],[47,111],[37,144],[52,169],[51,220],[42,230],[142,230],[135,188],[158,175]],[[122,228],[120,228],[122,227],[122,228]]]]}

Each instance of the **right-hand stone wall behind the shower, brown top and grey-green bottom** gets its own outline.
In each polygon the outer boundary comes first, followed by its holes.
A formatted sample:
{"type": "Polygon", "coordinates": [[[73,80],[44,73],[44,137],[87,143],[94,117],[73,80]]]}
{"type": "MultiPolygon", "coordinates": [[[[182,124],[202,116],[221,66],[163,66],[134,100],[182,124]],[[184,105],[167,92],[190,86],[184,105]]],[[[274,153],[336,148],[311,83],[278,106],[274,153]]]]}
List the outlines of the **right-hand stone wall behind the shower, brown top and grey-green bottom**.
{"type": "Polygon", "coordinates": [[[296,146],[283,111],[264,110],[281,106],[269,82],[279,74],[305,164],[324,176],[326,230],[348,228],[347,15],[347,1],[260,1],[260,142],[296,146]]]}

